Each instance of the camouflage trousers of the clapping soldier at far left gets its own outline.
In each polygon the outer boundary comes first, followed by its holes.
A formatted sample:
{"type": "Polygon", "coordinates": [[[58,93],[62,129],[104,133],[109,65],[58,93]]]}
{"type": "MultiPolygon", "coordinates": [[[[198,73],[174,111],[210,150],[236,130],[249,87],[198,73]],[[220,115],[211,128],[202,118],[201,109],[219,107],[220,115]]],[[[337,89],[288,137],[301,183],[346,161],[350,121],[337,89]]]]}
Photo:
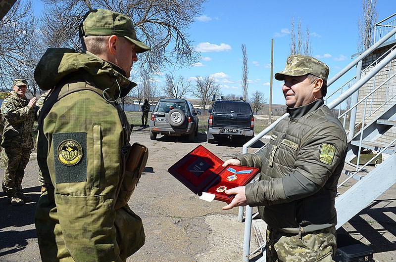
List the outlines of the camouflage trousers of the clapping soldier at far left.
{"type": "Polygon", "coordinates": [[[1,164],[4,169],[3,191],[12,196],[22,191],[22,178],[25,168],[29,163],[30,148],[3,147],[1,151],[1,164]]]}

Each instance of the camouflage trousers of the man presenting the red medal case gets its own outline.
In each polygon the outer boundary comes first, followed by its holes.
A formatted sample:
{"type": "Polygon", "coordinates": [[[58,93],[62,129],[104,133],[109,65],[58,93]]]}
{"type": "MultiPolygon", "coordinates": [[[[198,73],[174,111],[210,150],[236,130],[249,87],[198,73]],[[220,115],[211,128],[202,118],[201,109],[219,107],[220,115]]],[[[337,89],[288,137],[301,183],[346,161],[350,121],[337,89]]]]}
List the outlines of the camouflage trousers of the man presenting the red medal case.
{"type": "Polygon", "coordinates": [[[283,233],[267,227],[266,262],[332,262],[335,226],[309,233],[283,233]]]}

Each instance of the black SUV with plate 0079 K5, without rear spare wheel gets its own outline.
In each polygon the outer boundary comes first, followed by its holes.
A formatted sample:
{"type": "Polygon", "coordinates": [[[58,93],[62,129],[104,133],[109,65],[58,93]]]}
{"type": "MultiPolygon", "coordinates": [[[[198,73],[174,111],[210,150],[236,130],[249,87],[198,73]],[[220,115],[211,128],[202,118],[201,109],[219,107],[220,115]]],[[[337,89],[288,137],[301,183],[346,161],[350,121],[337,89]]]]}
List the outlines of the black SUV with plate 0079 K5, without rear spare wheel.
{"type": "Polygon", "coordinates": [[[254,136],[254,118],[250,104],[238,100],[217,100],[214,102],[207,125],[207,142],[213,143],[218,137],[245,137],[245,141],[254,136]]]}

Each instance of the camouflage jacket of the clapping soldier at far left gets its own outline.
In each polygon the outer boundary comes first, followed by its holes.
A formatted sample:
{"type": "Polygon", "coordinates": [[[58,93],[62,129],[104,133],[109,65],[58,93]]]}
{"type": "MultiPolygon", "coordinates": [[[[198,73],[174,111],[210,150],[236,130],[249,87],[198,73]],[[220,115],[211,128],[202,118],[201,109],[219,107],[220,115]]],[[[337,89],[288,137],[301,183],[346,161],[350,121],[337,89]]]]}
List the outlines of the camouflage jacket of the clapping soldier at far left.
{"type": "Polygon", "coordinates": [[[26,96],[19,97],[12,90],[1,104],[3,135],[1,146],[33,148],[32,129],[36,120],[37,106],[28,106],[26,96]]]}

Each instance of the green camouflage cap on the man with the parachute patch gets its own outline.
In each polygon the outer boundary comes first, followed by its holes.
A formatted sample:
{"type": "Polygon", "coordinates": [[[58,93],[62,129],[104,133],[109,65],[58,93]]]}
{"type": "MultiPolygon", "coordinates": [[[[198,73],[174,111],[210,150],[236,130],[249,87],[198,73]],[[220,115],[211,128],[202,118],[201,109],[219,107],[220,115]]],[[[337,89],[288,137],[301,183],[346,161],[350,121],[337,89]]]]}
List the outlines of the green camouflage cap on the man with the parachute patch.
{"type": "Polygon", "coordinates": [[[136,37],[135,27],[128,16],[105,9],[88,11],[79,26],[80,38],[83,36],[119,36],[135,44],[136,53],[150,50],[136,37]]]}

